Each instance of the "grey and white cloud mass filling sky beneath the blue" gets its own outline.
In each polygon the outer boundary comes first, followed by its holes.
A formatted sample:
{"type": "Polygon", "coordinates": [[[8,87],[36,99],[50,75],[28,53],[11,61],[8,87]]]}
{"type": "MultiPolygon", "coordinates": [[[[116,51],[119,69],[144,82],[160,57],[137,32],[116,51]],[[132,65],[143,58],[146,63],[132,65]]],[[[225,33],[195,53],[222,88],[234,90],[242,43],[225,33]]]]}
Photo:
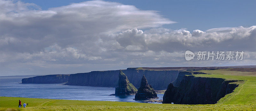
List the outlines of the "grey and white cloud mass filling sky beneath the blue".
{"type": "Polygon", "coordinates": [[[172,30],[161,26],[175,22],[156,11],[105,1],[42,10],[0,0],[0,9],[1,75],[256,62],[256,26],[172,30]],[[244,51],[245,60],[185,61],[186,50],[244,51]]]}

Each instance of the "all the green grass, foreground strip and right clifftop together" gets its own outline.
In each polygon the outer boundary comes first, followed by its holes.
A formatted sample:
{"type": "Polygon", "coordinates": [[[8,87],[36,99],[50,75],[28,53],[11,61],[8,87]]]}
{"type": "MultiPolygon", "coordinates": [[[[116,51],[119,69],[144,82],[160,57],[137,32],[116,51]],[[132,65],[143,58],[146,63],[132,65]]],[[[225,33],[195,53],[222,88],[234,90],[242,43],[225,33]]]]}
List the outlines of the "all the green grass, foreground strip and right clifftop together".
{"type": "Polygon", "coordinates": [[[196,77],[215,77],[235,82],[239,86],[234,92],[221,98],[213,105],[149,104],[111,101],[83,101],[59,99],[34,99],[0,97],[0,110],[256,110],[256,72],[242,72],[230,69],[201,70],[211,75],[192,75],[196,77]],[[19,99],[28,103],[26,108],[18,108],[19,99]]]}

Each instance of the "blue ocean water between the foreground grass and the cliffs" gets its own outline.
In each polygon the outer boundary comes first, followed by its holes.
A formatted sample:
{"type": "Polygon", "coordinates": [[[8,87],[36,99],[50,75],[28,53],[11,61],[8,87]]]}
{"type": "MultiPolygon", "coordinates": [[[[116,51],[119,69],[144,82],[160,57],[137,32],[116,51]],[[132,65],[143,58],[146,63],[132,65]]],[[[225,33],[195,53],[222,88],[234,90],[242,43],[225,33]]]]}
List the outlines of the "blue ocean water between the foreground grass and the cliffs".
{"type": "MultiPolygon", "coordinates": [[[[34,76],[34,75],[33,75],[34,76]]],[[[135,95],[108,96],[115,93],[115,88],[70,86],[58,84],[21,84],[22,78],[33,76],[8,76],[0,77],[0,96],[43,98],[43,99],[68,99],[68,100],[95,100],[95,101],[121,101],[145,102],[133,100],[135,95]]],[[[158,100],[163,100],[164,94],[157,94],[158,100]]],[[[157,102],[152,102],[157,103],[157,102]]]]}

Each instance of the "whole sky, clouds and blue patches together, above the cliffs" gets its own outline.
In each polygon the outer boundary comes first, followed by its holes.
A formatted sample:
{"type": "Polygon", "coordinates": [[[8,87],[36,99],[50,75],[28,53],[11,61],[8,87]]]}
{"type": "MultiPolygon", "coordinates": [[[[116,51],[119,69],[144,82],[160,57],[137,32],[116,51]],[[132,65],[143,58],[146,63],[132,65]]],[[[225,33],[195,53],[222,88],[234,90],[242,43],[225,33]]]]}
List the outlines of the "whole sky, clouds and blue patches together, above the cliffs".
{"type": "Polygon", "coordinates": [[[255,25],[255,0],[0,0],[0,75],[256,65],[255,25]],[[244,55],[187,61],[187,50],[244,55]]]}

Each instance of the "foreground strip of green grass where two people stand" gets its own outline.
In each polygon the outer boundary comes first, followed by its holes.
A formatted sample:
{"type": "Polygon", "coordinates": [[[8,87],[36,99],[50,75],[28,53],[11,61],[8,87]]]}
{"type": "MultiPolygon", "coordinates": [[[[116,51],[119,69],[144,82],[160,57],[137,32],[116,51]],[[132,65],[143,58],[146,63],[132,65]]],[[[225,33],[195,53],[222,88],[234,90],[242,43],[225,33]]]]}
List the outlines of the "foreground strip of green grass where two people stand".
{"type": "Polygon", "coordinates": [[[0,97],[0,110],[256,110],[256,105],[177,105],[0,97]],[[18,108],[19,99],[28,103],[18,108]]]}

